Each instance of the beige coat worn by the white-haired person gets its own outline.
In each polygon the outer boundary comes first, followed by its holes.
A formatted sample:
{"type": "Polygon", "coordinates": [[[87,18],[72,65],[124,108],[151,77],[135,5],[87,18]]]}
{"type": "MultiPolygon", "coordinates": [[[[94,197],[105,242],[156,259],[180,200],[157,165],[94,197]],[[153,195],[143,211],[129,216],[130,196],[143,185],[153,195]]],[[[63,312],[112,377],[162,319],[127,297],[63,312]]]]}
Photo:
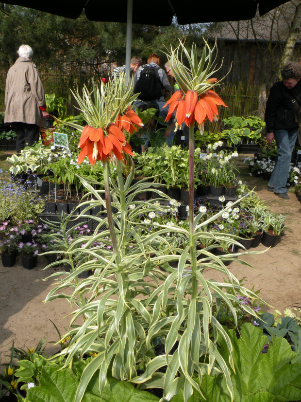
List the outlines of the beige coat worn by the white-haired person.
{"type": "Polygon", "coordinates": [[[40,125],[40,106],[46,105],[40,74],[32,59],[19,57],[9,69],[5,88],[5,123],[40,125]]]}

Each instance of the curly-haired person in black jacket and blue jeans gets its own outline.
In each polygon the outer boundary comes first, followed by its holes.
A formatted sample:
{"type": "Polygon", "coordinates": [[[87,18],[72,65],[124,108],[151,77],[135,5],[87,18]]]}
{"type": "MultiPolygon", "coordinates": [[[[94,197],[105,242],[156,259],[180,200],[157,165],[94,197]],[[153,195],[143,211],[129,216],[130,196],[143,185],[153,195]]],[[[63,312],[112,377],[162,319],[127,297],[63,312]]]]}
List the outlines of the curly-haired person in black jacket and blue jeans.
{"type": "Polygon", "coordinates": [[[288,200],[286,182],[299,128],[292,102],[301,105],[301,65],[289,62],[281,75],[282,81],[277,81],[270,90],[266,107],[267,140],[269,143],[276,140],[279,154],[268,191],[288,200]]]}

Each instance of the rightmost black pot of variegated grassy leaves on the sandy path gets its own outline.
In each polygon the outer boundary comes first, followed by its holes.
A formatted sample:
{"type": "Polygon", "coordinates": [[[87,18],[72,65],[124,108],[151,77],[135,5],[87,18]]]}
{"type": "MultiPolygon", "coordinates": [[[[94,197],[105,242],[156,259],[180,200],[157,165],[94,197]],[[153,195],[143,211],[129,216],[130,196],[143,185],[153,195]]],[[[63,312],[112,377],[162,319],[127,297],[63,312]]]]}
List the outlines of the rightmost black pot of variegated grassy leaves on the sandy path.
{"type": "Polygon", "coordinates": [[[284,220],[286,216],[283,214],[277,215],[276,213],[271,214],[266,211],[266,214],[263,219],[263,236],[262,236],[262,244],[266,247],[275,247],[280,234],[285,228],[284,220]]]}

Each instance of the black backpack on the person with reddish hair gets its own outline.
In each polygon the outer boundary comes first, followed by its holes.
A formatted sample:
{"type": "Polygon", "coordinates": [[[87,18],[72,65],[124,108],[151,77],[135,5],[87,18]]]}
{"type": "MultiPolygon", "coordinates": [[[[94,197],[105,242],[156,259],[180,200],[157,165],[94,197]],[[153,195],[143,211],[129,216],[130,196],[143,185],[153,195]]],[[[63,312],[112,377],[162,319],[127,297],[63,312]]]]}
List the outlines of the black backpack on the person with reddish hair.
{"type": "Polygon", "coordinates": [[[158,70],[152,66],[143,66],[134,93],[140,92],[138,99],[153,101],[162,95],[162,84],[158,70]]]}

